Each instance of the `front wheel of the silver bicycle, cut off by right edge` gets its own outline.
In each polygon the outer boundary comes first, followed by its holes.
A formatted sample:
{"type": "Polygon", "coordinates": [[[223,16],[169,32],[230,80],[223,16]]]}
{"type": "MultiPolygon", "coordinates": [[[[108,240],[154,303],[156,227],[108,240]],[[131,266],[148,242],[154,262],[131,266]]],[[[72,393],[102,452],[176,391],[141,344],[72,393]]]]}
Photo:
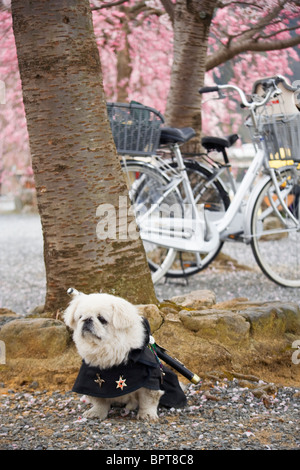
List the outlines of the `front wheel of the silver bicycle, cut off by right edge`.
{"type": "Polygon", "coordinates": [[[278,172],[281,204],[272,180],[262,188],[251,217],[251,246],[262,271],[284,287],[300,287],[300,172],[278,172]]]}

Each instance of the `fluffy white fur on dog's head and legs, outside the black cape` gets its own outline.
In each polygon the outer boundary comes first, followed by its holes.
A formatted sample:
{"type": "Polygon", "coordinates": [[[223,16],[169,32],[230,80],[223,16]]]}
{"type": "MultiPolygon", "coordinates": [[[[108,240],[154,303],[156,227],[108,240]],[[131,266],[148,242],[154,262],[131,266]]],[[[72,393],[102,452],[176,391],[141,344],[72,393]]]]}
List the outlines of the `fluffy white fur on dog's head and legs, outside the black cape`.
{"type": "MultiPolygon", "coordinates": [[[[75,291],[77,293],[77,291],[75,291]]],[[[129,351],[144,344],[144,328],[137,308],[120,297],[109,294],[77,293],[64,313],[67,326],[74,330],[73,339],[84,361],[106,369],[126,361],[129,351]],[[98,317],[104,319],[99,321],[98,317]],[[84,327],[89,322],[89,330],[84,327]]],[[[127,409],[139,407],[138,418],[157,420],[157,406],[163,392],[140,388],[124,395],[127,409]]],[[[107,417],[110,406],[120,399],[89,397],[93,407],[87,417],[107,417]]]]}

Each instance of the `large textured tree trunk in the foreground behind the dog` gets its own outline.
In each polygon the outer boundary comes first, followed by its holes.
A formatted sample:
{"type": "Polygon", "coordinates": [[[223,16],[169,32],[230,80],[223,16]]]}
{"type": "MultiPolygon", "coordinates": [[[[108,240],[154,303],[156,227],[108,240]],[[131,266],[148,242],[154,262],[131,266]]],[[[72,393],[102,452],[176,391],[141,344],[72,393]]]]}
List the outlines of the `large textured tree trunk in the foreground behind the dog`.
{"type": "Polygon", "coordinates": [[[44,236],[45,310],[64,308],[69,287],[156,302],[140,238],[118,238],[127,217],[119,201],[128,201],[128,192],[89,2],[13,0],[12,14],[44,236]],[[97,237],[105,203],[116,211],[116,240],[97,237]]]}

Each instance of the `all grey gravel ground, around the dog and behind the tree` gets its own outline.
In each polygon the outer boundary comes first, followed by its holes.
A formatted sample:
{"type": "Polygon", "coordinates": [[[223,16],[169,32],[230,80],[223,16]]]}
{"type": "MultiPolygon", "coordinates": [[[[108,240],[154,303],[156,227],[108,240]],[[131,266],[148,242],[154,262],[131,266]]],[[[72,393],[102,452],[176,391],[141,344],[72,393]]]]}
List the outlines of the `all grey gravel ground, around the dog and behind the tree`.
{"type": "MultiPolygon", "coordinates": [[[[25,315],[43,303],[45,294],[39,217],[0,214],[0,224],[0,307],[25,315]]],[[[228,245],[226,250],[253,270],[232,265],[220,271],[212,265],[187,285],[160,283],[157,296],[166,299],[210,289],[218,302],[247,297],[299,303],[299,289],[280,288],[256,269],[250,248],[228,245]]],[[[186,391],[185,408],[161,408],[159,422],[153,424],[137,421],[134,412],[118,408],[101,423],[86,420],[82,413],[88,405],[71,392],[38,390],[34,383],[31,388],[7,390],[0,378],[0,449],[173,450],[188,459],[189,452],[200,449],[300,448],[299,388],[270,387],[256,379],[245,382],[218,374],[202,379],[202,384],[186,391]]],[[[193,458],[190,463],[195,463],[193,458]]]]}

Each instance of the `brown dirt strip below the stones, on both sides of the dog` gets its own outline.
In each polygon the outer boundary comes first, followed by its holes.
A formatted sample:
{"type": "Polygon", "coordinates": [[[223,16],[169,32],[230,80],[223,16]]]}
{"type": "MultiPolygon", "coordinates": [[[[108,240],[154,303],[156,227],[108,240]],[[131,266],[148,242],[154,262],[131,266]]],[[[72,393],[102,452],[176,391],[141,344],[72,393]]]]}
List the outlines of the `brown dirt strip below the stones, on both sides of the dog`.
{"type": "MultiPolygon", "coordinates": [[[[229,380],[255,377],[277,386],[299,387],[300,365],[291,362],[290,351],[278,358],[249,352],[246,360],[243,353],[213,345],[210,357],[207,357],[206,349],[200,360],[199,357],[192,357],[190,361],[183,362],[201,379],[207,375],[221,374],[229,380]]],[[[11,359],[7,364],[0,365],[0,394],[7,390],[24,389],[70,391],[80,364],[81,359],[73,345],[64,354],[54,358],[11,359]]],[[[181,374],[177,375],[181,382],[189,383],[181,374]]]]}

